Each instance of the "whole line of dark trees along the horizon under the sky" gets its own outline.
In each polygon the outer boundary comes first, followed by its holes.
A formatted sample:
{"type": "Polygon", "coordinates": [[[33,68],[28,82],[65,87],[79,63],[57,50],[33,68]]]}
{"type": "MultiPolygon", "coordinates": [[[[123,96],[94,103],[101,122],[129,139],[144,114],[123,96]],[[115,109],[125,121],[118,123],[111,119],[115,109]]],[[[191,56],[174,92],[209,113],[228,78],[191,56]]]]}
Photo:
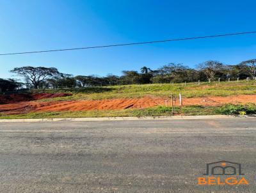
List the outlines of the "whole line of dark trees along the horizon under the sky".
{"type": "Polygon", "coordinates": [[[10,72],[22,77],[23,82],[15,79],[0,79],[0,91],[17,88],[84,88],[94,86],[112,86],[125,84],[177,83],[216,81],[220,79],[253,79],[256,80],[256,59],[249,59],[237,65],[224,65],[220,61],[205,61],[196,68],[181,63],[168,63],[156,70],[143,66],[140,72],[124,70],[121,76],[77,75],[61,73],[57,68],[22,66],[10,72]]]}

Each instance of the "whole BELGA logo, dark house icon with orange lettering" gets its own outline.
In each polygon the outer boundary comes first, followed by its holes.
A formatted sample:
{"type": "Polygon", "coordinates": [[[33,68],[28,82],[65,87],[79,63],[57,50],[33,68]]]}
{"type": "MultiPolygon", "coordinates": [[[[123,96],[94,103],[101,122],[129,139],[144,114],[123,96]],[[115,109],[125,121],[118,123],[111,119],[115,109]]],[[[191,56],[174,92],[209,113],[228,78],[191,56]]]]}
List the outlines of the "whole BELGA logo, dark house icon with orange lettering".
{"type": "Polygon", "coordinates": [[[205,177],[198,178],[198,185],[248,185],[243,177],[241,164],[225,160],[206,164],[205,177]]]}

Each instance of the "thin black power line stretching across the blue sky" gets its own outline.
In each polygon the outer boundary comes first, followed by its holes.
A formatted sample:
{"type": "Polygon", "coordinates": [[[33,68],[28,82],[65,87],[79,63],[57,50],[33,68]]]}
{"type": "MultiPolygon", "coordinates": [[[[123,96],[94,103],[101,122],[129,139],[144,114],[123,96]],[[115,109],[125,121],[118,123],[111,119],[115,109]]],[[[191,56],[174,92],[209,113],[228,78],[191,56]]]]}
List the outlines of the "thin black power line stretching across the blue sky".
{"type": "Polygon", "coordinates": [[[125,46],[125,45],[140,45],[140,44],[147,44],[147,43],[174,42],[174,41],[182,41],[182,40],[216,38],[216,37],[222,37],[222,36],[246,35],[246,34],[252,34],[252,33],[256,33],[256,31],[229,33],[229,34],[211,35],[211,36],[197,36],[197,37],[191,37],[191,38],[178,38],[178,39],[171,39],[171,40],[158,40],[158,41],[151,41],[151,42],[134,42],[134,43],[122,43],[122,44],[112,44],[112,45],[100,45],[100,46],[93,46],[93,47],[78,47],[78,48],[70,48],[70,49],[40,50],[40,51],[31,51],[31,52],[13,52],[13,53],[0,54],[0,56],[17,55],[17,54],[35,54],[35,53],[42,53],[42,52],[60,52],[60,51],[68,51],[68,50],[98,49],[98,48],[104,48],[104,47],[118,47],[118,46],[125,46]]]}

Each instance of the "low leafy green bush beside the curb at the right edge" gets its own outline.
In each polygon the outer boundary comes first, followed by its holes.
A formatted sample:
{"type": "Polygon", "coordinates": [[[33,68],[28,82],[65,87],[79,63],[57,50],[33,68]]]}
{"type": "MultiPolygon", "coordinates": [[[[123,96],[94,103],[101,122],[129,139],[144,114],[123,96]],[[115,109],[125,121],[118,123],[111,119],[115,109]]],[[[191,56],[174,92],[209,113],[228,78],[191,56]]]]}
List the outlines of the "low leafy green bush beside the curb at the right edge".
{"type": "Polygon", "coordinates": [[[256,105],[255,104],[227,104],[219,109],[221,114],[256,114],[256,105]]]}

